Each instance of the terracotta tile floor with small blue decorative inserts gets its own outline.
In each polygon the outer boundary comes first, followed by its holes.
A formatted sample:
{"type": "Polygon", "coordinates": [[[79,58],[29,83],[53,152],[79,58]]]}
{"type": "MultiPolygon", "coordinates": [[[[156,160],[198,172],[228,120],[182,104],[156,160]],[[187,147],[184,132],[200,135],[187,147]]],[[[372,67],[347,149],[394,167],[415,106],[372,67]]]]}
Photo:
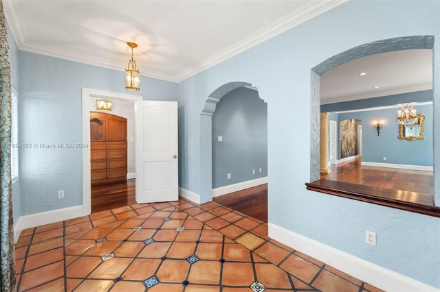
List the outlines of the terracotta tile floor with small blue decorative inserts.
{"type": "Polygon", "coordinates": [[[380,291],[215,202],[135,204],[29,228],[18,291],[380,291]]]}

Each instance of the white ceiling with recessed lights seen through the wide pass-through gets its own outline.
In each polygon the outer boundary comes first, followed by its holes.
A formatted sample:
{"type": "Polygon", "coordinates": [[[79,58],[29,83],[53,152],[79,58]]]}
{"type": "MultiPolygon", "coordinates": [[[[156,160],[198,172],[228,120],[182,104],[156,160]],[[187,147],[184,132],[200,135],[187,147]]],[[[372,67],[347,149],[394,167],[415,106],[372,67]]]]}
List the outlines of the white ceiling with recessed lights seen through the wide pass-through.
{"type": "Polygon", "coordinates": [[[391,51],[355,59],[322,74],[320,86],[321,104],[432,89],[432,50],[391,51]]]}

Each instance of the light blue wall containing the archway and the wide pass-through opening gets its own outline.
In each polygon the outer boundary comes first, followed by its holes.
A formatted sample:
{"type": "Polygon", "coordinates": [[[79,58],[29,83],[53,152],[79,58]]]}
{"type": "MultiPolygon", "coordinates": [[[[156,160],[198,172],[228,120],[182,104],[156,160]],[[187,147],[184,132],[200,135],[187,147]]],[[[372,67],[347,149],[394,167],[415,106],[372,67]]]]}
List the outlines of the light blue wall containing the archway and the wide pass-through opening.
{"type": "MultiPolygon", "coordinates": [[[[267,101],[270,230],[272,224],[280,226],[440,288],[439,218],[305,188],[310,179],[311,69],[353,47],[401,36],[434,36],[434,56],[439,56],[439,19],[439,1],[348,1],[179,82],[184,116],[179,162],[188,170],[181,188],[199,194],[202,202],[210,199],[201,171],[207,158],[201,151],[212,143],[201,136],[206,127],[201,112],[223,84],[249,82],[267,101]],[[377,247],[365,244],[365,230],[377,233],[377,247]]],[[[440,58],[434,58],[434,72],[440,74],[440,58]]],[[[434,88],[440,88],[435,77],[434,88]]],[[[434,90],[434,101],[439,99],[434,90]]],[[[440,135],[437,129],[434,137],[440,135]]],[[[440,163],[435,165],[437,182],[440,163]]],[[[438,201],[440,192],[435,196],[438,201]]]]}

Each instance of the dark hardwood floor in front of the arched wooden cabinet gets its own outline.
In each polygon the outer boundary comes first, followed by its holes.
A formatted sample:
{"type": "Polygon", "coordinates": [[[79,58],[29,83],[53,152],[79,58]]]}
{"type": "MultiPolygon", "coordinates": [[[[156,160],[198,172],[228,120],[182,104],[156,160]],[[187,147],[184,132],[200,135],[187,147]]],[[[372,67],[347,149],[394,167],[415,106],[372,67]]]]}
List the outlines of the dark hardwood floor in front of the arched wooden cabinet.
{"type": "Polygon", "coordinates": [[[91,212],[135,204],[135,180],[91,185],[91,212]]]}

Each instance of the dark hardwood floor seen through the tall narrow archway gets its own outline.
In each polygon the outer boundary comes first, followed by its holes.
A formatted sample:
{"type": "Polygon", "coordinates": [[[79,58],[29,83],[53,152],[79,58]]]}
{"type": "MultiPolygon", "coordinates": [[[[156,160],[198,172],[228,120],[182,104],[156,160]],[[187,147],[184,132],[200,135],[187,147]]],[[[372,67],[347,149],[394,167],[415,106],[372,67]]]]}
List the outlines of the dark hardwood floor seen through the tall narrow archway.
{"type": "Polygon", "coordinates": [[[267,184],[214,197],[212,200],[267,222],[267,184]]]}

